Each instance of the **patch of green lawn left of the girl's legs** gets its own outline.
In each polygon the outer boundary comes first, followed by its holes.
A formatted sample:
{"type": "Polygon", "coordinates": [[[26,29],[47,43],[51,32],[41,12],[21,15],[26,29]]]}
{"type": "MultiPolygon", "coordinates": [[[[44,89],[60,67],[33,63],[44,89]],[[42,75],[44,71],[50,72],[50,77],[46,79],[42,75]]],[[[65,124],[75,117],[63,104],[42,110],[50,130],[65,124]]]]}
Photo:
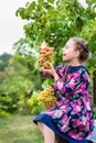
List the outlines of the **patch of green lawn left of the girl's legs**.
{"type": "Polygon", "coordinates": [[[42,143],[43,138],[32,119],[30,116],[0,118],[0,143],[42,143]]]}

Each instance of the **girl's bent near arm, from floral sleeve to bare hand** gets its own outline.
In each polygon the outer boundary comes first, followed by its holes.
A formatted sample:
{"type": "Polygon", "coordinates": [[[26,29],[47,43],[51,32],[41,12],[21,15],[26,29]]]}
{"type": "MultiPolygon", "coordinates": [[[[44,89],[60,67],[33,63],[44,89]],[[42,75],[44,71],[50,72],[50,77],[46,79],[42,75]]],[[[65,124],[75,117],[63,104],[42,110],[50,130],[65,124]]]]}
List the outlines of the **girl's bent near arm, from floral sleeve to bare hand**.
{"type": "Polygon", "coordinates": [[[68,92],[72,92],[81,84],[83,84],[85,86],[88,84],[88,79],[85,79],[87,74],[86,74],[86,72],[83,72],[83,70],[74,73],[72,78],[67,79],[66,82],[64,82],[58,77],[58,75],[56,74],[53,66],[52,66],[51,69],[43,69],[43,72],[47,72],[50,75],[52,75],[54,77],[55,84],[54,84],[53,88],[54,88],[55,91],[57,91],[62,96],[66,96],[68,92]]]}

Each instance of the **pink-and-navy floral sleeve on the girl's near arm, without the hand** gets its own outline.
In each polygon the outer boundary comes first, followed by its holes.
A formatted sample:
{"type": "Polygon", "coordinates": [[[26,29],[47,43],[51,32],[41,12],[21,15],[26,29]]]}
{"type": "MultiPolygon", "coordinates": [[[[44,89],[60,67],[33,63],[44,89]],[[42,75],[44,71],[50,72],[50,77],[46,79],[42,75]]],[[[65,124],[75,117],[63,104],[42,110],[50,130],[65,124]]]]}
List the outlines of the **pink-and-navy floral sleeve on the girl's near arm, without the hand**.
{"type": "Polygon", "coordinates": [[[65,97],[74,90],[82,94],[83,91],[87,92],[88,84],[89,77],[87,73],[84,70],[78,70],[77,73],[73,73],[72,78],[66,79],[66,82],[62,81],[60,78],[56,79],[53,88],[57,91],[57,94],[65,97]]]}

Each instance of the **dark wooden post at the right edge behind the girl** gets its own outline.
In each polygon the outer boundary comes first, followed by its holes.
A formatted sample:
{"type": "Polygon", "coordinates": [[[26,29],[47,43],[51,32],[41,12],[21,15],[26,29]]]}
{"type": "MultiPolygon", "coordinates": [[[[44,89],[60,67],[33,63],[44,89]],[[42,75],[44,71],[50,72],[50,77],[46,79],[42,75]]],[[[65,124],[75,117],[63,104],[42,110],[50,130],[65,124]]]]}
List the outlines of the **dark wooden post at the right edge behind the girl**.
{"type": "Polygon", "coordinates": [[[94,101],[94,107],[96,107],[96,70],[94,70],[94,77],[93,77],[93,101],[94,101]]]}

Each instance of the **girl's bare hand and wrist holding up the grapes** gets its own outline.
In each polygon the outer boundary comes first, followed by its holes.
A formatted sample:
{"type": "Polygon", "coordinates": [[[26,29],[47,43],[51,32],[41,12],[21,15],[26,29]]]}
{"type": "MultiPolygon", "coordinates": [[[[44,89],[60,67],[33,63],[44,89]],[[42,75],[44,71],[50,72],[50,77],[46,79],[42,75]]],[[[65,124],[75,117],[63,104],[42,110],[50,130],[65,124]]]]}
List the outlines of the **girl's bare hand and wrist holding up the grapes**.
{"type": "Polygon", "coordinates": [[[41,68],[41,72],[47,73],[47,74],[52,75],[52,76],[54,77],[54,79],[57,80],[57,79],[58,79],[58,75],[56,74],[56,72],[55,72],[55,69],[54,69],[54,67],[53,67],[53,65],[50,64],[50,66],[51,66],[50,69],[45,69],[44,67],[42,67],[42,68],[41,68]]]}

